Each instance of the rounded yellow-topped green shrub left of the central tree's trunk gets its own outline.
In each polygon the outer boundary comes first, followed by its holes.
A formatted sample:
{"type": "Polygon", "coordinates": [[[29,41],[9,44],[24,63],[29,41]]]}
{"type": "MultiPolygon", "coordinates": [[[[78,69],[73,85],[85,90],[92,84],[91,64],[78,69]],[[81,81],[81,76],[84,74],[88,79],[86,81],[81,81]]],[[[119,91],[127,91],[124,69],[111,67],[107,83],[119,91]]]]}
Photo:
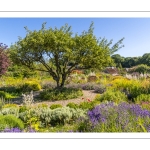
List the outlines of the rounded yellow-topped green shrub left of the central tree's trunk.
{"type": "Polygon", "coordinates": [[[41,85],[36,82],[28,81],[20,86],[20,90],[22,92],[39,91],[41,90],[41,85]]]}

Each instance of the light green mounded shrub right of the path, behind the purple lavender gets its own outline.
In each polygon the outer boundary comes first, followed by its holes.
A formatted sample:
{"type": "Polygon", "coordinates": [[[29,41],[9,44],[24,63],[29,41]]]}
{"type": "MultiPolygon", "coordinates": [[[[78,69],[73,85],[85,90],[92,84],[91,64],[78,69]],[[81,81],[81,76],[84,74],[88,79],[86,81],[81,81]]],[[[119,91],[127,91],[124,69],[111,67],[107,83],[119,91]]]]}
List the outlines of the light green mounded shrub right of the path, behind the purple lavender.
{"type": "Polygon", "coordinates": [[[108,89],[105,93],[96,98],[97,101],[113,101],[115,103],[127,101],[127,96],[117,90],[108,89]]]}

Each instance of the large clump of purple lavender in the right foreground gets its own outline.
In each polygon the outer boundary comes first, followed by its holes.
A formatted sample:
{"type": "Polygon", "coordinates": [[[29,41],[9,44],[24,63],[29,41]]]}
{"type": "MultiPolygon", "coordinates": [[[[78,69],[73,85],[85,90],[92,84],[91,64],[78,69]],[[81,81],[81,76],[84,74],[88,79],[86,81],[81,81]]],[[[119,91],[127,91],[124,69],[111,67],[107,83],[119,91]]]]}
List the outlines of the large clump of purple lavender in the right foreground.
{"type": "Polygon", "coordinates": [[[89,120],[86,124],[89,127],[86,126],[86,128],[90,129],[88,132],[150,131],[150,111],[142,109],[137,104],[125,102],[118,105],[113,102],[102,103],[88,111],[87,115],[89,120]]]}

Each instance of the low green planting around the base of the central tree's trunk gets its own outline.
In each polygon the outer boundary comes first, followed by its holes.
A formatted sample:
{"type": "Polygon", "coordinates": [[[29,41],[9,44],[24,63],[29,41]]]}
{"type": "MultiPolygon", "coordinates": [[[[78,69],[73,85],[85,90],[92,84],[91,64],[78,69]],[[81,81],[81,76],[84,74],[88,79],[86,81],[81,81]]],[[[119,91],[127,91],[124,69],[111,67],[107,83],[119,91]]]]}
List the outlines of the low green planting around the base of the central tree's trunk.
{"type": "Polygon", "coordinates": [[[73,99],[82,95],[83,93],[81,89],[62,88],[44,90],[40,93],[40,98],[43,100],[55,101],[73,99]]]}

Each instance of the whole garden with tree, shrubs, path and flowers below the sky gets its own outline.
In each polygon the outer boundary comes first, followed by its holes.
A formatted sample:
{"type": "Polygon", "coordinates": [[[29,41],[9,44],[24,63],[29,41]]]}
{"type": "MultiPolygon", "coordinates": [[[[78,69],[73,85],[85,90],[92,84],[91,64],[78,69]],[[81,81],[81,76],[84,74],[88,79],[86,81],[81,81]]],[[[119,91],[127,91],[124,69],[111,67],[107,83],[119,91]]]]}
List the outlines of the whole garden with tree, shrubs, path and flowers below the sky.
{"type": "Polygon", "coordinates": [[[0,132],[150,132],[142,57],[126,70],[113,55],[123,39],[110,47],[93,23],[74,37],[67,25],[44,25],[10,48],[0,43],[0,132]]]}

